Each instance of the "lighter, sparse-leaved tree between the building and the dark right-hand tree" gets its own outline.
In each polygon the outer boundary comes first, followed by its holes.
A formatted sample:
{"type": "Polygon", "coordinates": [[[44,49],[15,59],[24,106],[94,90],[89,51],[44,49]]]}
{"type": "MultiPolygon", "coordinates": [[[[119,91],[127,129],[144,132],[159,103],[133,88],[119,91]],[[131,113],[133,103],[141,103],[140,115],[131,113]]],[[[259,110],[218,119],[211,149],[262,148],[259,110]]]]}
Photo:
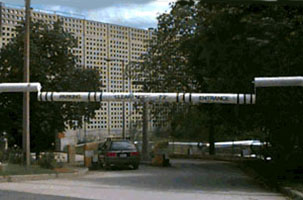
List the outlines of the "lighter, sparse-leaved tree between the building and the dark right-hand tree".
{"type": "MultiPolygon", "coordinates": [[[[171,6],[174,7],[175,4],[171,6]]],[[[134,72],[132,78],[143,83],[142,91],[196,91],[194,80],[185,73],[188,70],[187,60],[180,50],[183,41],[192,35],[194,10],[191,1],[186,5],[186,9],[173,10],[174,14],[163,14],[158,17],[158,28],[154,32],[156,37],[146,42],[148,53],[141,56],[143,62],[130,64],[131,71],[134,72]]],[[[153,120],[158,126],[166,127],[167,123],[170,123],[169,131],[174,137],[189,139],[182,137],[181,130],[177,130],[180,126],[176,124],[186,115],[184,112],[189,110],[187,105],[184,106],[153,104],[151,105],[153,120]]],[[[198,123],[197,121],[197,125],[198,123]]]]}

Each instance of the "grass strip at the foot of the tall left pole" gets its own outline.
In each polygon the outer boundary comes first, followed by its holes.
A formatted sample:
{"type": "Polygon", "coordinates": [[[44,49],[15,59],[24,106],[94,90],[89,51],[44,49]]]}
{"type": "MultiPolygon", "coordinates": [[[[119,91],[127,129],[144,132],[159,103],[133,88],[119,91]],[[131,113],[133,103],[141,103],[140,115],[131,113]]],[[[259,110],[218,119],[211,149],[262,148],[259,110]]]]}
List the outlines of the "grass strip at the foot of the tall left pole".
{"type": "Polygon", "coordinates": [[[54,174],[56,171],[51,169],[44,169],[38,165],[31,165],[26,168],[22,165],[17,164],[8,164],[5,169],[0,171],[0,176],[9,176],[9,175],[30,175],[30,174],[54,174]]]}

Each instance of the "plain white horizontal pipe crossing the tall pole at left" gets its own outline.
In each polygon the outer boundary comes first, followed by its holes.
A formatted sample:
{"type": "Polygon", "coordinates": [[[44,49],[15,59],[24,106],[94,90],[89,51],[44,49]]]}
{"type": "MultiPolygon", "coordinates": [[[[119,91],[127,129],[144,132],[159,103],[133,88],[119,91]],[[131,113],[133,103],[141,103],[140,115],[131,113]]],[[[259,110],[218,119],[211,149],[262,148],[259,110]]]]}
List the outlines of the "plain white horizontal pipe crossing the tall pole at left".
{"type": "Polygon", "coordinates": [[[0,83],[0,92],[40,92],[40,83],[0,83]]]}

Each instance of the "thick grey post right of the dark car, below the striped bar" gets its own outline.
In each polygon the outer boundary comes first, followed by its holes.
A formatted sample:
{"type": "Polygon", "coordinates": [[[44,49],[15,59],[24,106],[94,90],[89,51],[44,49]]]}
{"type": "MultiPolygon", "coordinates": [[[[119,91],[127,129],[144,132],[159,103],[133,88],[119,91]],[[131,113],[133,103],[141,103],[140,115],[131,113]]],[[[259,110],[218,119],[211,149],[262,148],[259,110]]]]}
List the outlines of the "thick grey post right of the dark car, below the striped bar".
{"type": "Polygon", "coordinates": [[[143,102],[143,134],[142,134],[142,159],[148,160],[148,137],[147,137],[147,127],[148,127],[148,103],[143,102]]]}

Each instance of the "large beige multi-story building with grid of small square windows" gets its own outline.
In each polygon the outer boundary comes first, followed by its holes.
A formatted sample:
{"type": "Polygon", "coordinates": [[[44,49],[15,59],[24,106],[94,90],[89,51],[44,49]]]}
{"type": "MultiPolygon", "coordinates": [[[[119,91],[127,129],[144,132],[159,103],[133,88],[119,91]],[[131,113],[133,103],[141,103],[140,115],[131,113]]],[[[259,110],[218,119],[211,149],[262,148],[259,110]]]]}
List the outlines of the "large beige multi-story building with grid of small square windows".
{"type": "MultiPolygon", "coordinates": [[[[3,48],[15,37],[15,26],[24,19],[23,7],[0,3],[0,48],[3,48]]],[[[129,79],[122,79],[122,68],[131,61],[139,61],[142,53],[146,52],[145,41],[152,39],[153,30],[86,20],[83,16],[70,16],[59,12],[41,10],[32,11],[32,20],[42,20],[52,24],[57,20],[63,22],[66,31],[78,39],[78,48],[73,53],[79,57],[83,68],[95,69],[100,74],[104,92],[134,92],[140,86],[133,85],[129,79]]],[[[125,103],[125,130],[128,134],[133,125],[140,122],[141,111],[132,109],[130,102],[125,103]]],[[[105,136],[121,134],[122,132],[122,103],[104,102],[101,109],[96,111],[95,119],[86,123],[82,130],[67,131],[67,135],[105,136]],[[68,134],[69,133],[69,134],[68,134]]]]}

